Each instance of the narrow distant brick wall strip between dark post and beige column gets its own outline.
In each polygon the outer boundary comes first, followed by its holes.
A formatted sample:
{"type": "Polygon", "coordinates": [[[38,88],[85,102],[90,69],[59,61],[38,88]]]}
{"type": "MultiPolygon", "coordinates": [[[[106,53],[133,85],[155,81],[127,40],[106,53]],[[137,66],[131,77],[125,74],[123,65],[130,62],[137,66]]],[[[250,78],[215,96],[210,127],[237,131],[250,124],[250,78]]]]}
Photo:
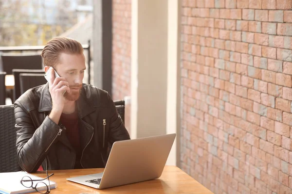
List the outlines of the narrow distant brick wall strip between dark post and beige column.
{"type": "MultiPolygon", "coordinates": [[[[130,96],[131,0],[112,1],[112,98],[130,96]]],[[[126,105],[126,128],[130,129],[130,104],[126,105]]]]}

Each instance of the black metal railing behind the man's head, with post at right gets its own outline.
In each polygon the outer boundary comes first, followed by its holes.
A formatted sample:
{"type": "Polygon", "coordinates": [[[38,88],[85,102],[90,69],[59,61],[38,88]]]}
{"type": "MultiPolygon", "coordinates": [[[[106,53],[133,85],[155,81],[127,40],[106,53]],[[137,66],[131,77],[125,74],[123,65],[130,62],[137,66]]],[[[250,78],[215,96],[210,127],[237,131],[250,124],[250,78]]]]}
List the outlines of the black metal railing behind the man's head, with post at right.
{"type": "MultiPolygon", "coordinates": [[[[90,84],[90,62],[91,62],[91,55],[90,55],[90,40],[88,40],[87,45],[82,45],[83,49],[88,50],[88,83],[90,84]]],[[[0,52],[10,52],[10,51],[38,51],[44,49],[45,46],[17,46],[17,47],[0,47],[0,52]]]]}

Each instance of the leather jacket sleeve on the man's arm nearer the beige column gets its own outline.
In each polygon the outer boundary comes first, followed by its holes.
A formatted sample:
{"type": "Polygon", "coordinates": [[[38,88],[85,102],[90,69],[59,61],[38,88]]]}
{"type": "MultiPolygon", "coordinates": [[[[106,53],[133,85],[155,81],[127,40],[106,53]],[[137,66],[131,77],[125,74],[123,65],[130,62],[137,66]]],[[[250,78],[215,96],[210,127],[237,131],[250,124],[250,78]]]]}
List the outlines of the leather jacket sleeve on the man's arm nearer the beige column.
{"type": "Polygon", "coordinates": [[[108,94],[108,98],[109,98],[109,106],[110,106],[109,142],[110,142],[110,145],[112,145],[116,141],[128,140],[130,139],[130,136],[109,94],[108,94]]]}

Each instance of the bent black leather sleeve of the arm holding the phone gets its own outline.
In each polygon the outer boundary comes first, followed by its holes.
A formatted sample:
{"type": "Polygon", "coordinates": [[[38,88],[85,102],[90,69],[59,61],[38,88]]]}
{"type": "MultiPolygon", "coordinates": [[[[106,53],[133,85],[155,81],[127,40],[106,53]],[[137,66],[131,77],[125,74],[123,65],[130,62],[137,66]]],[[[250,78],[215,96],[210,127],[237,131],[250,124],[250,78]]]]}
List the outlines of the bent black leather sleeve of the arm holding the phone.
{"type": "Polygon", "coordinates": [[[18,101],[14,103],[14,114],[18,164],[29,173],[36,172],[58,136],[60,126],[46,116],[36,129],[30,113],[18,101]]]}

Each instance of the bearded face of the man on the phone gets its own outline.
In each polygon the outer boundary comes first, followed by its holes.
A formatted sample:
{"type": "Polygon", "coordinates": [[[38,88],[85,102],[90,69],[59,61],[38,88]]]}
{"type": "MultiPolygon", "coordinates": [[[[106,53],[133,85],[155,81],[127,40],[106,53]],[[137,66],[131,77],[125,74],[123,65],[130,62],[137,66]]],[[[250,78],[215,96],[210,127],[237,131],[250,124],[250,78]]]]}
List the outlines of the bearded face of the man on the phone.
{"type": "Polygon", "coordinates": [[[75,101],[79,98],[85,69],[83,55],[67,53],[59,55],[59,63],[55,65],[55,70],[60,77],[65,78],[69,83],[70,92],[64,94],[66,99],[75,101]]]}

